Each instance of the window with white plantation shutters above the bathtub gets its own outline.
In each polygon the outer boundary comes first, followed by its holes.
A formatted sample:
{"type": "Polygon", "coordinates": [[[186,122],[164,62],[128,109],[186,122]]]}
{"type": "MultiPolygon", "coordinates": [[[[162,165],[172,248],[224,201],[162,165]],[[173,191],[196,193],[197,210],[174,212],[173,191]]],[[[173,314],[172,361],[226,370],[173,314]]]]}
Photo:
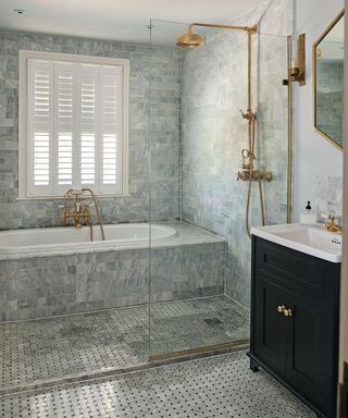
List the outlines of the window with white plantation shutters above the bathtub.
{"type": "Polygon", "coordinates": [[[21,53],[20,197],[127,194],[128,61],[21,53]]]}

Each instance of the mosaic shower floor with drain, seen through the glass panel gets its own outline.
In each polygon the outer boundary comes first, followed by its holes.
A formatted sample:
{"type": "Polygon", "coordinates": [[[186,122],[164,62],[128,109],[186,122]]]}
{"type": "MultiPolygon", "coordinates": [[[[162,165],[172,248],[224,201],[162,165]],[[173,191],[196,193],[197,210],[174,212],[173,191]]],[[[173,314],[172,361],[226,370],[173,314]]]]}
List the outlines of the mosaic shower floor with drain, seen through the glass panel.
{"type": "Polygon", "coordinates": [[[151,355],[183,352],[249,339],[249,312],[228,297],[154,304],[151,355]]]}

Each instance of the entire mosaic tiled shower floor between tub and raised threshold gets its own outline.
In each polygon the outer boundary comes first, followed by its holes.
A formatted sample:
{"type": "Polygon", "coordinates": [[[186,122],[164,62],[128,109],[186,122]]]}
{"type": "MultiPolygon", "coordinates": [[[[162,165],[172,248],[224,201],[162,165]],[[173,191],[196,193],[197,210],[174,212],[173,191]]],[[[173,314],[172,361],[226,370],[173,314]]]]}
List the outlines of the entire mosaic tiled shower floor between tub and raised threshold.
{"type": "MultiPolygon", "coordinates": [[[[248,337],[249,314],[226,296],[152,305],[151,355],[248,337]]],[[[146,364],[149,307],[0,323],[0,390],[146,364]]]]}

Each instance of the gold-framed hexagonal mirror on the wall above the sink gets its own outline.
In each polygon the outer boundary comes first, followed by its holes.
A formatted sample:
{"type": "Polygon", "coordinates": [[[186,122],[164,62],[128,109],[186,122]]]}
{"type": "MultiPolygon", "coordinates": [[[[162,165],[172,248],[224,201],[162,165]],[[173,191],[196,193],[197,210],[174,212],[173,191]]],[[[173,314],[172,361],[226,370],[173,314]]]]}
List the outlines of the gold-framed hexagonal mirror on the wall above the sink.
{"type": "Polygon", "coordinates": [[[344,12],[313,46],[314,128],[343,149],[344,12]]]}

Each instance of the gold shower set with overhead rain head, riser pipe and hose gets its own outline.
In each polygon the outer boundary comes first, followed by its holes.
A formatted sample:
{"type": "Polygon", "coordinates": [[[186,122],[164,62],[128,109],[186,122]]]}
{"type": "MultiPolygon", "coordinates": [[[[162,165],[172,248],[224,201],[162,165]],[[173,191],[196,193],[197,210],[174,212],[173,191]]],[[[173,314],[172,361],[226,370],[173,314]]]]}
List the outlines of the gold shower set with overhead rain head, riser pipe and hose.
{"type": "Polygon", "coordinates": [[[259,183],[259,194],[260,194],[260,206],[261,206],[261,221],[262,225],[265,224],[265,211],[264,211],[264,202],[263,202],[263,194],[261,187],[261,180],[272,181],[272,173],[263,173],[259,170],[254,169],[253,161],[257,159],[256,157],[256,114],[252,111],[252,86],[251,86],[251,59],[252,59],[252,48],[251,48],[251,37],[253,34],[257,34],[258,27],[254,26],[226,26],[226,25],[216,25],[209,23],[191,23],[188,26],[187,33],[181,35],[177,38],[176,45],[181,48],[197,48],[204,45],[204,39],[201,35],[197,35],[192,33],[192,26],[203,26],[203,27],[212,27],[220,29],[232,29],[232,30],[245,30],[248,33],[248,109],[246,112],[241,111],[241,115],[248,122],[248,149],[243,150],[243,157],[245,159],[245,163],[243,167],[243,172],[237,174],[237,180],[248,181],[248,197],[246,205],[246,229],[247,233],[250,235],[250,224],[249,224],[249,211],[250,211],[250,200],[251,200],[251,184],[252,181],[257,181],[259,183]]]}

